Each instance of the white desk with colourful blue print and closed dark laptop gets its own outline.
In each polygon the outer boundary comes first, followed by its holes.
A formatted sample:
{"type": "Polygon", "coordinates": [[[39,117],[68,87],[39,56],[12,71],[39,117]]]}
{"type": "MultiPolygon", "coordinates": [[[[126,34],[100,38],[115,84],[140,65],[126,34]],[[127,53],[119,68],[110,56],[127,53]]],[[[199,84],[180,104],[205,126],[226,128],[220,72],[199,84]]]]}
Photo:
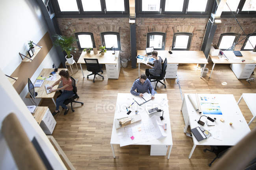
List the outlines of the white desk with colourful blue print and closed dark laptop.
{"type": "MultiPolygon", "coordinates": [[[[243,117],[243,114],[241,113],[236,100],[233,95],[224,95],[224,94],[202,94],[202,95],[209,95],[216,97],[217,101],[219,101],[222,115],[208,115],[208,114],[199,114],[195,111],[193,108],[191,102],[189,101],[188,94],[184,94],[184,100],[182,102],[182,114],[185,121],[185,128],[184,133],[187,131],[187,126],[190,125],[190,128],[195,128],[197,126],[204,127],[206,130],[216,130],[221,129],[222,130],[222,141],[218,139],[214,139],[212,136],[210,136],[208,139],[204,139],[202,141],[197,141],[194,135],[193,137],[193,148],[189,154],[189,159],[191,158],[195,147],[197,145],[219,145],[219,146],[234,146],[236,143],[238,143],[247,133],[250,132],[250,128],[245,121],[245,118],[243,117]],[[209,116],[212,119],[216,118],[215,126],[207,126],[205,123],[204,126],[201,126],[197,123],[200,116],[205,115],[209,116]],[[220,119],[223,118],[224,122],[221,122],[220,119]],[[197,121],[195,121],[197,120],[197,121]],[[232,126],[229,125],[229,123],[232,122],[232,126]]],[[[196,101],[195,94],[191,94],[194,97],[194,101],[196,101]]],[[[198,94],[198,96],[201,94],[198,94]]],[[[206,117],[202,117],[200,119],[201,121],[205,122],[207,120],[206,117]]],[[[214,132],[214,131],[213,131],[214,132]]]]}

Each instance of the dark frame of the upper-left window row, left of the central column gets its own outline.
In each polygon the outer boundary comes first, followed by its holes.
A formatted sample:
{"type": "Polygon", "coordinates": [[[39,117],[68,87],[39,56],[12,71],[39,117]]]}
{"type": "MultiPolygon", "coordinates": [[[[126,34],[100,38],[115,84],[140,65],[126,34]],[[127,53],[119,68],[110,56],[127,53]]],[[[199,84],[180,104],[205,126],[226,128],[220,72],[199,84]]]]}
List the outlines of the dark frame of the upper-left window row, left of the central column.
{"type": "Polygon", "coordinates": [[[128,17],[129,16],[129,0],[124,0],[124,11],[107,11],[105,0],[100,0],[101,11],[83,11],[82,0],[76,0],[78,11],[61,12],[58,0],[51,0],[54,8],[54,13],[58,18],[66,17],[128,17]],[[105,11],[106,10],[106,11],[105,11]]]}

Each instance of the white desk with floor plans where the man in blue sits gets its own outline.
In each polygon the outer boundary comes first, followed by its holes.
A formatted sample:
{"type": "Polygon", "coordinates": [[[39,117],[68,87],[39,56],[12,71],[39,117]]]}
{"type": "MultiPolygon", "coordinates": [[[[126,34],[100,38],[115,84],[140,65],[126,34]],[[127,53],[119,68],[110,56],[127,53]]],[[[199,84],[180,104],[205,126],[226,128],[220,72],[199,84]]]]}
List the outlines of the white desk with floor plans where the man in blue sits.
{"type": "MultiPolygon", "coordinates": [[[[115,116],[114,119],[120,118],[120,117],[127,117],[128,115],[126,107],[127,105],[132,104],[133,102],[133,98],[135,99],[136,96],[132,95],[131,93],[118,93],[117,94],[117,104],[115,107],[115,116]]],[[[166,94],[155,94],[155,99],[151,100],[141,106],[139,106],[136,102],[131,106],[130,110],[132,111],[130,113],[129,116],[131,115],[135,115],[135,110],[139,111],[139,115],[141,115],[141,119],[143,121],[143,117],[145,119],[145,117],[149,117],[149,115],[147,114],[145,108],[147,107],[151,107],[152,103],[154,103],[153,106],[158,107],[159,109],[162,109],[164,111],[163,113],[163,117],[165,117],[165,121],[167,122],[167,137],[164,137],[162,139],[155,139],[153,141],[146,141],[146,142],[141,142],[141,143],[136,143],[135,145],[151,145],[151,147],[153,146],[170,146],[169,148],[169,154],[167,159],[169,159],[170,154],[171,154],[171,149],[173,146],[173,139],[172,139],[172,134],[171,134],[171,124],[170,124],[170,117],[169,117],[169,107],[168,107],[168,103],[165,104],[163,107],[160,106],[160,102],[162,100],[167,100],[167,95],[166,94]]],[[[162,112],[157,112],[157,113],[152,113],[150,115],[158,115],[161,116],[162,112]]],[[[113,123],[113,127],[112,127],[112,134],[111,134],[111,141],[110,141],[110,145],[112,148],[112,152],[113,152],[113,157],[115,158],[115,152],[114,152],[114,148],[113,148],[113,144],[120,144],[119,143],[119,138],[117,135],[117,130],[115,128],[115,124],[113,123]]],[[[152,148],[151,148],[152,149],[152,148]]]]}

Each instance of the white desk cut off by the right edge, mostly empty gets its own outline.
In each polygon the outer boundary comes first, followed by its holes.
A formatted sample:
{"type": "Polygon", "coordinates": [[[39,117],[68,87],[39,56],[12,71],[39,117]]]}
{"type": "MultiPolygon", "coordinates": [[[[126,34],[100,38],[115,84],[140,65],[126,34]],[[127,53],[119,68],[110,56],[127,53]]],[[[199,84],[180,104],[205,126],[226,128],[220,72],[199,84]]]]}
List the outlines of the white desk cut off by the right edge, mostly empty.
{"type": "Polygon", "coordinates": [[[252,121],[256,118],[256,103],[255,103],[256,93],[243,93],[240,99],[238,100],[237,104],[240,103],[242,98],[247,104],[248,108],[250,109],[250,112],[253,115],[252,119],[250,119],[250,122],[248,123],[248,125],[250,125],[252,121]]]}

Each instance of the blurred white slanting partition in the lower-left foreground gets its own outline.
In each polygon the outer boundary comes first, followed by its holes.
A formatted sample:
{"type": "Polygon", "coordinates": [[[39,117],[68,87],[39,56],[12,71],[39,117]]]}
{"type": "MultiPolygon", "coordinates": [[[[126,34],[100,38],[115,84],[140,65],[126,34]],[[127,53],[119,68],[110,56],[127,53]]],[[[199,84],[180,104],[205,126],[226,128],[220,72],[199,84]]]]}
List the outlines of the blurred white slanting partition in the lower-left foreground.
{"type": "MultiPolygon", "coordinates": [[[[0,127],[2,127],[2,121],[9,113],[15,113],[28,138],[30,140],[32,140],[33,137],[37,139],[49,163],[52,165],[52,168],[54,170],[66,170],[67,168],[61,161],[58,153],[1,70],[0,80],[0,96],[4,99],[0,102],[0,127]]],[[[0,170],[16,169],[17,167],[10,154],[6,141],[2,133],[0,133],[0,170]]]]}

